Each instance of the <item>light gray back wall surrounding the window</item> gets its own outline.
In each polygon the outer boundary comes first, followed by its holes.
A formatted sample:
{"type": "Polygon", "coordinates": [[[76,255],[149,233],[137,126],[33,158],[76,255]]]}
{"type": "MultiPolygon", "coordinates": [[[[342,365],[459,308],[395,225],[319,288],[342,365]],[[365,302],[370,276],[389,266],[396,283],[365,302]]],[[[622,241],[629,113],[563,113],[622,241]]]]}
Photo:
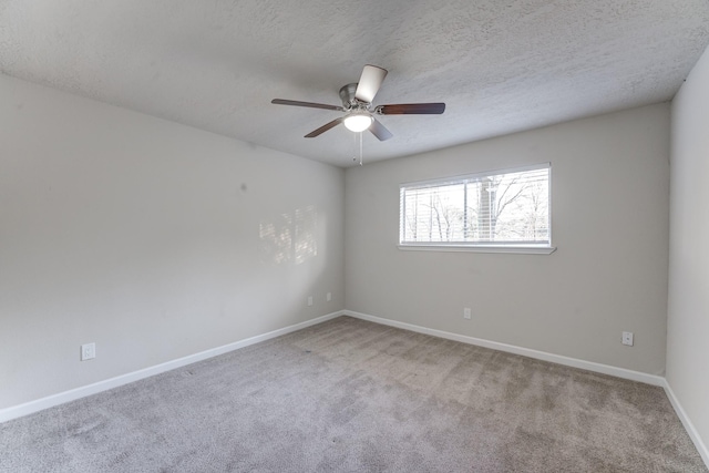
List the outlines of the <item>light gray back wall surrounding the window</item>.
{"type": "Polygon", "coordinates": [[[347,169],[347,309],[662,374],[669,119],[665,103],[347,169]],[[401,183],[543,162],[556,253],[397,248],[401,183]]]}

